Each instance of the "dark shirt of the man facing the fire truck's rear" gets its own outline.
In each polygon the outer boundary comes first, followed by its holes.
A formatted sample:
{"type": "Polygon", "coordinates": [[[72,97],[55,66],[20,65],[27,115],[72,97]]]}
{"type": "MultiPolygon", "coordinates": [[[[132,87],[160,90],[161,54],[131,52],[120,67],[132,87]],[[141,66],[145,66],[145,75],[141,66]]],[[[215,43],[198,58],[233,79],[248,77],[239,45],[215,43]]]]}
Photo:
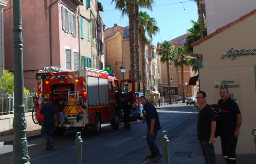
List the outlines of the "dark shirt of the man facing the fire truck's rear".
{"type": "Polygon", "coordinates": [[[54,125],[54,115],[56,114],[56,109],[50,103],[46,103],[42,106],[40,114],[44,115],[44,121],[42,127],[49,127],[54,125]]]}

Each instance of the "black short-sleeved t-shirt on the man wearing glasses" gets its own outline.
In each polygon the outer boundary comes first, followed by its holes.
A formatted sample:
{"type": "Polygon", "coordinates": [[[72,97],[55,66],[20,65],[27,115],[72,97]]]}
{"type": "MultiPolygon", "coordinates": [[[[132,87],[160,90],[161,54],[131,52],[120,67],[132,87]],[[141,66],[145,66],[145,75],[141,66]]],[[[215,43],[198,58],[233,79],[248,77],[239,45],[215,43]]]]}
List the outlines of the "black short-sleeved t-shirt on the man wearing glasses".
{"type": "Polygon", "coordinates": [[[197,120],[198,140],[209,140],[211,136],[211,121],[215,121],[214,112],[208,104],[199,111],[197,120]]]}

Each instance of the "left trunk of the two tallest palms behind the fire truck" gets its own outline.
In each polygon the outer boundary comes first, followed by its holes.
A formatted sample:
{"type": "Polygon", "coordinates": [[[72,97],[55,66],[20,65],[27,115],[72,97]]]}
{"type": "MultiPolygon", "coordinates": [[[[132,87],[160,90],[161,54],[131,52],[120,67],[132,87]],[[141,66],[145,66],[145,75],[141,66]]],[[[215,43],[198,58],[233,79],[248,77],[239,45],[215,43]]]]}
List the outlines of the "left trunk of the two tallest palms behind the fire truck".
{"type": "Polygon", "coordinates": [[[134,45],[134,20],[135,20],[135,4],[129,4],[129,43],[130,43],[130,71],[131,78],[135,78],[135,45],[134,45]]]}

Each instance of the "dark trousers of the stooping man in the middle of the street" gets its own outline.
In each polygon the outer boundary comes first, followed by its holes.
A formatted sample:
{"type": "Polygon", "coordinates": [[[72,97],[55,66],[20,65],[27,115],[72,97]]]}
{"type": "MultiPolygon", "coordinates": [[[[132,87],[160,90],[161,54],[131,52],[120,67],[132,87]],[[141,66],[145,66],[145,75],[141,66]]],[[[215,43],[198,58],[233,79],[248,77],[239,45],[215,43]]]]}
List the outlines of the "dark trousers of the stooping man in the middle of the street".
{"type": "Polygon", "coordinates": [[[147,144],[151,151],[151,156],[156,157],[156,156],[160,155],[159,149],[156,147],[156,143],[155,143],[158,129],[154,129],[154,134],[155,134],[154,137],[150,136],[149,132],[150,132],[150,129],[148,129],[148,131],[147,131],[147,144]]]}

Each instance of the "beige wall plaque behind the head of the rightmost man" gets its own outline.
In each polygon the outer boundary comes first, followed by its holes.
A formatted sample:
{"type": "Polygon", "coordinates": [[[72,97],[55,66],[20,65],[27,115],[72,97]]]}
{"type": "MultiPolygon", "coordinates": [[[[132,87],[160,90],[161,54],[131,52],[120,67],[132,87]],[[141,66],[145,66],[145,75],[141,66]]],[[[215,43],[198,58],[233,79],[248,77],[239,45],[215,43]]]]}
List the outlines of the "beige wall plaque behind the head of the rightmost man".
{"type": "Polygon", "coordinates": [[[220,88],[222,86],[228,87],[229,97],[232,98],[237,105],[240,106],[240,80],[214,80],[213,81],[213,94],[214,94],[214,104],[218,103],[221,99],[220,88]]]}

